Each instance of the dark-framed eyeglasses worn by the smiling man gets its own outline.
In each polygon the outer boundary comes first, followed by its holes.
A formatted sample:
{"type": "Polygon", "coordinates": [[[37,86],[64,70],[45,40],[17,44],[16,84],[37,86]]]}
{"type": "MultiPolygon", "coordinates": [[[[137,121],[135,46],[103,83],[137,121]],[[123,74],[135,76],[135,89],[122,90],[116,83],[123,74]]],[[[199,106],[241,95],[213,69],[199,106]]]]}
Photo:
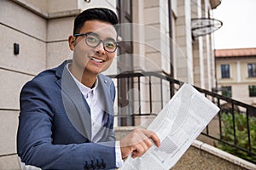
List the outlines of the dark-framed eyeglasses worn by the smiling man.
{"type": "Polygon", "coordinates": [[[115,52],[116,48],[118,47],[118,42],[114,40],[109,41],[102,41],[99,37],[96,37],[93,33],[84,33],[84,34],[75,34],[74,37],[85,36],[85,43],[90,46],[91,48],[96,48],[103,42],[103,48],[105,51],[109,53],[115,52]]]}

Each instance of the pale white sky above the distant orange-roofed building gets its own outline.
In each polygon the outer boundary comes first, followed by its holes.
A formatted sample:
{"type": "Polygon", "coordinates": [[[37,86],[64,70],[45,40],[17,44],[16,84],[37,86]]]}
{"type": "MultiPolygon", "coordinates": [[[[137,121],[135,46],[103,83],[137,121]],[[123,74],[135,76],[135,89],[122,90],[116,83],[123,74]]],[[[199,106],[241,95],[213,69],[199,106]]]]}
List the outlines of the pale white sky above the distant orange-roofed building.
{"type": "Polygon", "coordinates": [[[256,48],[256,0],[222,0],[213,18],[223,22],[213,32],[216,49],[256,48]]]}

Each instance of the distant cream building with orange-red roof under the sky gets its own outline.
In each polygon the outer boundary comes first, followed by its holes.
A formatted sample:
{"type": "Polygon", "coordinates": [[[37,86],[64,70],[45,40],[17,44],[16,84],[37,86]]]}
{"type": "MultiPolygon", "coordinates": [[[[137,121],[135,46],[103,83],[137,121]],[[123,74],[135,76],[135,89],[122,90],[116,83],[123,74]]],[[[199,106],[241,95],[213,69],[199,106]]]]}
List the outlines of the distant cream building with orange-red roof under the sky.
{"type": "Polygon", "coordinates": [[[216,80],[221,93],[256,105],[256,48],[215,50],[216,80]]]}

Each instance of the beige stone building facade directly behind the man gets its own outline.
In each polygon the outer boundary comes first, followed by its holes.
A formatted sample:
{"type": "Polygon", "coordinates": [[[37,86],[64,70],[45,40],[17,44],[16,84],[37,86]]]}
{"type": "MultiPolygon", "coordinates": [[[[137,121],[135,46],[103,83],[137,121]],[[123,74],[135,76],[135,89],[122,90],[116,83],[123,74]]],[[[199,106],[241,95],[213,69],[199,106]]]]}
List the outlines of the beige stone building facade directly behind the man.
{"type": "MultiPolygon", "coordinates": [[[[20,89],[40,71],[72,58],[67,37],[72,35],[73,20],[81,11],[104,7],[119,14],[119,39],[123,42],[112,67],[105,74],[165,72],[180,81],[211,90],[216,84],[212,35],[192,37],[191,20],[211,18],[212,9],[219,3],[219,0],[1,0],[0,167],[18,166],[12,162],[16,160],[20,89]]],[[[142,81],[144,85],[140,93],[147,96],[148,82],[142,81]]],[[[152,82],[158,88],[159,82],[152,82]]],[[[134,86],[123,85],[127,92],[131,87],[134,86]]],[[[165,102],[169,99],[168,95],[164,97],[165,102]]],[[[153,110],[158,112],[158,94],[154,94],[154,101],[153,110]]],[[[147,111],[147,105],[145,99],[139,107],[147,111]]],[[[141,118],[135,122],[125,119],[121,125],[142,122],[141,118]]]]}

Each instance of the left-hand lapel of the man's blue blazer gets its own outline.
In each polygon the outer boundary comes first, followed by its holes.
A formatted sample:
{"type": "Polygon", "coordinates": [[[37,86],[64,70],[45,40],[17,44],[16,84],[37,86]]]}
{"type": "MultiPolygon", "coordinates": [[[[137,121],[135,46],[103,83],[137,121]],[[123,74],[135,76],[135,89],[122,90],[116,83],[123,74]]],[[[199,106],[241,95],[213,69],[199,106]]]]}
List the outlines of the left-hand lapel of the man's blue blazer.
{"type": "Polygon", "coordinates": [[[61,77],[56,83],[61,88],[64,109],[69,121],[73,124],[73,127],[75,127],[84,138],[90,140],[90,107],[74,82],[73,77],[71,77],[70,73],[67,71],[67,63],[62,65],[64,65],[62,69],[57,68],[56,70],[56,76],[61,77]]]}

